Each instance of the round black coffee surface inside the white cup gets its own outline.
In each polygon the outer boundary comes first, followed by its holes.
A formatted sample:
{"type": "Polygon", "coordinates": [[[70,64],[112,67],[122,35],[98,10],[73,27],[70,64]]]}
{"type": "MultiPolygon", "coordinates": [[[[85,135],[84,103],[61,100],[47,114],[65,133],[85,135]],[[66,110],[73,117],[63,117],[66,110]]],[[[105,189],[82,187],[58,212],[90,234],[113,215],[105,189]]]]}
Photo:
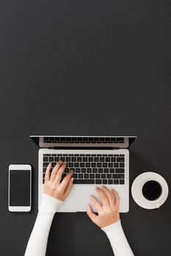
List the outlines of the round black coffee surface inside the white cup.
{"type": "Polygon", "coordinates": [[[156,200],[161,195],[161,186],[157,181],[147,181],[142,187],[142,195],[148,200],[156,200]]]}

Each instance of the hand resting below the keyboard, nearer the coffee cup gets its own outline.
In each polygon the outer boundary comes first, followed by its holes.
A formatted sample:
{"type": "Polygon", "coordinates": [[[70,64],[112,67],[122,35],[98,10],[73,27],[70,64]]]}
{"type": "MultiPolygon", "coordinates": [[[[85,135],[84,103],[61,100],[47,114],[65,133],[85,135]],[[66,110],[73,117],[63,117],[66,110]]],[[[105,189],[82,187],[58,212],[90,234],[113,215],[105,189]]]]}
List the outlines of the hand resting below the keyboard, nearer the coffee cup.
{"type": "Polygon", "coordinates": [[[96,192],[102,199],[102,205],[96,200],[94,195],[91,195],[91,202],[96,208],[98,215],[94,214],[91,209],[91,206],[88,205],[87,214],[88,217],[99,227],[106,227],[115,222],[118,222],[120,219],[119,215],[119,195],[115,189],[107,189],[107,187],[96,187],[96,192]]]}

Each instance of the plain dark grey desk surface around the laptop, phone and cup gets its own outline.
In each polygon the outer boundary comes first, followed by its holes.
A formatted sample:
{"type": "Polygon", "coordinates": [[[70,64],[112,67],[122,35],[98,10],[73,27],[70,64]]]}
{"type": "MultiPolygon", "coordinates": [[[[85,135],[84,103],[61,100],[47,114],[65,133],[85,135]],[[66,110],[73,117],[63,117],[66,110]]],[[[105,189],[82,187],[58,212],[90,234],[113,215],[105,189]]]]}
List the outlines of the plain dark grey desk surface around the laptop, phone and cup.
{"type": "MultiPolygon", "coordinates": [[[[23,255],[37,217],[38,148],[29,135],[137,135],[130,184],[170,184],[170,1],[0,2],[1,255],[23,255]],[[8,165],[33,166],[32,210],[7,210],[8,165]]],[[[121,214],[134,255],[169,255],[170,196],[121,214]]],[[[113,255],[86,214],[56,214],[47,255],[113,255]]]]}

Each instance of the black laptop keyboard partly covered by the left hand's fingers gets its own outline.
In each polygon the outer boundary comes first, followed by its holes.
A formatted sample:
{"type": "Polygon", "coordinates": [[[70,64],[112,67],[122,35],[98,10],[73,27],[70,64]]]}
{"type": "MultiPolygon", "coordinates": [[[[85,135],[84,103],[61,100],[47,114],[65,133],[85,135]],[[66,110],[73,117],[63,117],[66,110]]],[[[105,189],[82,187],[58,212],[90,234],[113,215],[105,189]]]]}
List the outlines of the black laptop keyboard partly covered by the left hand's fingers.
{"type": "Polygon", "coordinates": [[[59,160],[67,162],[61,180],[72,170],[74,184],[125,184],[124,154],[43,154],[43,183],[49,162],[53,169],[59,160]]]}

